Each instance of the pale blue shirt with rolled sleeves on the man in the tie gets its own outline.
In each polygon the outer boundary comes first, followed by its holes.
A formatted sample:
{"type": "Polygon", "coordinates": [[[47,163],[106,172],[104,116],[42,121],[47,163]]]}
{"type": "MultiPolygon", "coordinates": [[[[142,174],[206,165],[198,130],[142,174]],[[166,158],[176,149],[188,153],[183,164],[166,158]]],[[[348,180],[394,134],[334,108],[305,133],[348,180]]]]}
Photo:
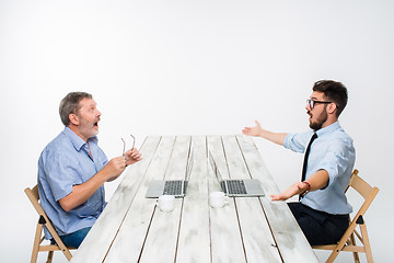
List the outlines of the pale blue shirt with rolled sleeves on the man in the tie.
{"type": "MultiPolygon", "coordinates": [[[[297,152],[304,152],[313,130],[302,134],[288,134],[283,146],[297,152]]],[[[350,214],[351,206],[344,194],[350,182],[355,165],[356,151],[352,139],[336,122],[316,132],[317,138],[311,146],[306,176],[308,180],[318,170],[328,172],[328,185],[322,190],[308,193],[301,203],[309,207],[329,214],[350,214]]]]}

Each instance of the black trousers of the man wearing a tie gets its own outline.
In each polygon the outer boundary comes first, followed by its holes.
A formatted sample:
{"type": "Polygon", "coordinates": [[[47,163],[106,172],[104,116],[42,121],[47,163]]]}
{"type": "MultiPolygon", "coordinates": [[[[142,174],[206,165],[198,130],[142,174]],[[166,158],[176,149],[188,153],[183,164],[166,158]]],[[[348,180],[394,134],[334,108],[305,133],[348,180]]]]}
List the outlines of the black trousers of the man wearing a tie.
{"type": "Polygon", "coordinates": [[[311,245],[337,243],[349,227],[348,215],[332,215],[299,202],[288,205],[311,245]]]}

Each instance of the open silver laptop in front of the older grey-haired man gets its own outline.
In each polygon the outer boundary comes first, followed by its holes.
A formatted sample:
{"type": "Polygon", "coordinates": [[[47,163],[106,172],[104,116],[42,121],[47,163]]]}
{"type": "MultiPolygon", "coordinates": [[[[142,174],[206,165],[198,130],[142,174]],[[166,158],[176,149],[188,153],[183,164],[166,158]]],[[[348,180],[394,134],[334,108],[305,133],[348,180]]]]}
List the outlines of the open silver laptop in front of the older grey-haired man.
{"type": "Polygon", "coordinates": [[[189,155],[186,164],[185,180],[155,180],[149,182],[147,198],[158,198],[161,195],[174,195],[175,197],[184,197],[186,195],[187,182],[190,178],[193,168],[193,152],[189,155]]]}

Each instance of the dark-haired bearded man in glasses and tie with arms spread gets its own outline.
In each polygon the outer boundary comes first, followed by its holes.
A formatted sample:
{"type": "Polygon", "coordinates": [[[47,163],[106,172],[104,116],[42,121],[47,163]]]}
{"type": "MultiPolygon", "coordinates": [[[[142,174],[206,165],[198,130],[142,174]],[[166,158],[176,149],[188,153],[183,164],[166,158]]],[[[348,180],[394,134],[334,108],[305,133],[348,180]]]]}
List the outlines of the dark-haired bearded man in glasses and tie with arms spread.
{"type": "Polygon", "coordinates": [[[286,201],[300,195],[301,202],[289,207],[314,244],[336,243],[349,226],[351,206],[344,194],[355,165],[352,139],[340,127],[338,117],[347,104],[347,89],[329,80],[317,81],[306,101],[312,130],[302,134],[270,133],[256,121],[243,134],[259,136],[297,152],[305,152],[303,174],[273,201],[286,201]]]}

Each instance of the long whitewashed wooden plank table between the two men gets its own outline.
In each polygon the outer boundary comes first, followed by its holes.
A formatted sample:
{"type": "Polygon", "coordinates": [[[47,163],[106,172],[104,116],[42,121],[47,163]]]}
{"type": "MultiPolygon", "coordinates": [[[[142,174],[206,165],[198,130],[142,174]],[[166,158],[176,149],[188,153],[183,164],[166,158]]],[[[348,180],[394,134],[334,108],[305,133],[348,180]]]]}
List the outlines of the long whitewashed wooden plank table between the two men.
{"type": "Polygon", "coordinates": [[[143,160],[124,179],[71,262],[318,262],[285,202],[231,198],[211,208],[208,193],[222,176],[259,179],[265,193],[279,190],[251,137],[149,136],[143,160]],[[185,178],[189,147],[194,164],[184,198],[163,213],[144,194],[151,180],[185,178]]]}

